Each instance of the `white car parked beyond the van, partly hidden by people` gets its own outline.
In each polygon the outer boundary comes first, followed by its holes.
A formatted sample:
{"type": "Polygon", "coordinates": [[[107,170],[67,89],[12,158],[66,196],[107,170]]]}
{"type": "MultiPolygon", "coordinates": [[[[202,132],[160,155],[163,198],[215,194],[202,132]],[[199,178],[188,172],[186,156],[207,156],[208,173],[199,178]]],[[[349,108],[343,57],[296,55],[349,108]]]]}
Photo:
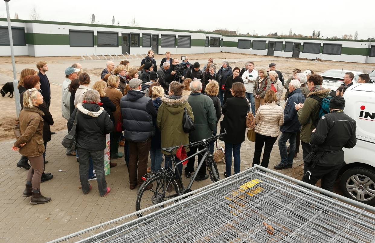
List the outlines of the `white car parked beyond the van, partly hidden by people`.
{"type": "MultiPolygon", "coordinates": [[[[349,70],[340,70],[340,69],[330,69],[325,72],[322,72],[320,75],[323,77],[323,88],[331,89],[331,91],[336,93],[337,88],[344,83],[345,72],[353,72],[354,79],[353,84],[357,83],[358,76],[363,74],[363,72],[349,71],[349,70]]],[[[336,94],[333,94],[335,96],[336,94]]]]}

